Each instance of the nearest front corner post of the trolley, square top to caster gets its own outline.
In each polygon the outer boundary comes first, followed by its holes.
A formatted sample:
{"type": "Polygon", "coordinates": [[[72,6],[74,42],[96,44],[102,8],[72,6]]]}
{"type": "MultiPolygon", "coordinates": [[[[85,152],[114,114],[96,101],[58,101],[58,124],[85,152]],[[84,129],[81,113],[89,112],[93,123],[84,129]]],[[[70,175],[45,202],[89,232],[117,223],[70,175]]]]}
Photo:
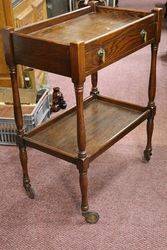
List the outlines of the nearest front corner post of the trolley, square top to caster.
{"type": "Polygon", "coordinates": [[[71,77],[75,87],[76,107],[77,107],[77,142],[79,183],[82,195],[81,210],[82,215],[88,223],[96,223],[98,214],[89,212],[88,205],[88,168],[89,157],[86,153],[86,130],[84,121],[83,90],[85,82],[85,43],[70,44],[71,77]]]}

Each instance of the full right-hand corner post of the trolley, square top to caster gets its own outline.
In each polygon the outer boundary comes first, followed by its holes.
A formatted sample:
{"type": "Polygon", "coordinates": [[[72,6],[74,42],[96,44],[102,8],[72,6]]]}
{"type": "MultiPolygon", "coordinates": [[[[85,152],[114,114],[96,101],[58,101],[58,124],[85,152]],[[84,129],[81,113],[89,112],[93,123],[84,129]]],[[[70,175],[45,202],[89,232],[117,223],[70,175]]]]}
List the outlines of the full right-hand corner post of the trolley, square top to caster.
{"type": "Polygon", "coordinates": [[[149,161],[152,155],[152,135],[154,130],[154,117],[156,114],[155,95],[156,95],[156,66],[157,66],[157,52],[158,44],[161,37],[161,22],[162,9],[155,8],[152,11],[156,17],[156,34],[155,41],[151,44],[151,69],[148,87],[148,108],[150,113],[147,118],[147,145],[144,150],[144,159],[149,161]]]}

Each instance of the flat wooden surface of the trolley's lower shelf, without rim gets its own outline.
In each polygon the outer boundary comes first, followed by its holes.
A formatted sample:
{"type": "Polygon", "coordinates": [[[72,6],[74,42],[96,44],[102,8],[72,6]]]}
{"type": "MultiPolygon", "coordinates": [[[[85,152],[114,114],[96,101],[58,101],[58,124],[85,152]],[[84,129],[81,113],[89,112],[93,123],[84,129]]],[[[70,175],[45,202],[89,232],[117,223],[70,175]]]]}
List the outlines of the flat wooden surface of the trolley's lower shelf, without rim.
{"type": "MultiPolygon", "coordinates": [[[[97,152],[109,139],[116,136],[142,114],[99,99],[85,104],[86,151],[97,152]]],[[[45,126],[31,135],[34,142],[48,145],[77,156],[76,111],[45,126]]]]}

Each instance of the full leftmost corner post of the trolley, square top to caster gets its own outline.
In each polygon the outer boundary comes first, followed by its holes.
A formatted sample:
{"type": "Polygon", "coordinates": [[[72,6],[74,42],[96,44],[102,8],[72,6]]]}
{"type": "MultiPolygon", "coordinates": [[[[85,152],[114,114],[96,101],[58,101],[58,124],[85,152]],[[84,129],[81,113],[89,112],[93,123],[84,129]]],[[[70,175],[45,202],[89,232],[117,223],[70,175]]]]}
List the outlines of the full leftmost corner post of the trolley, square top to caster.
{"type": "Polygon", "coordinates": [[[19,95],[19,87],[17,82],[17,67],[14,59],[14,49],[13,49],[13,28],[8,28],[3,30],[3,42],[4,42],[4,50],[5,50],[5,59],[6,63],[9,67],[9,73],[12,84],[12,92],[13,92],[13,108],[14,108],[14,116],[17,127],[17,146],[19,147],[19,156],[20,162],[22,165],[23,171],[23,186],[29,198],[34,198],[34,191],[31,188],[30,179],[28,175],[27,168],[27,151],[26,145],[23,140],[24,136],[24,122],[23,115],[21,109],[20,95],[19,95]]]}

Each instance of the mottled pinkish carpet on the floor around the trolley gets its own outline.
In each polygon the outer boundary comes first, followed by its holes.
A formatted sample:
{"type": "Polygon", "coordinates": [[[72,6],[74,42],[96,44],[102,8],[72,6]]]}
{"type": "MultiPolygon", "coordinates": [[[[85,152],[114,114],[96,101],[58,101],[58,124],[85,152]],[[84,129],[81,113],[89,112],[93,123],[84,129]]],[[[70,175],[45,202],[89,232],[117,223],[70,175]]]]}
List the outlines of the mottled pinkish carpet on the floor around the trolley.
{"type": "MultiPolygon", "coordinates": [[[[164,3],[165,1],[160,1],[164,3]]],[[[120,6],[153,8],[157,1],[120,0],[120,6]]],[[[167,29],[162,32],[157,69],[157,116],[153,156],[141,161],[145,123],[91,163],[90,208],[96,225],[80,214],[78,171],[65,161],[28,149],[29,173],[36,192],[22,188],[15,147],[0,147],[0,250],[166,250],[167,249],[167,29]]],[[[147,103],[150,47],[107,67],[99,74],[104,95],[147,103]]],[[[68,106],[74,104],[68,78],[49,75],[68,106]]],[[[85,95],[90,90],[87,80],[85,95]]]]}

